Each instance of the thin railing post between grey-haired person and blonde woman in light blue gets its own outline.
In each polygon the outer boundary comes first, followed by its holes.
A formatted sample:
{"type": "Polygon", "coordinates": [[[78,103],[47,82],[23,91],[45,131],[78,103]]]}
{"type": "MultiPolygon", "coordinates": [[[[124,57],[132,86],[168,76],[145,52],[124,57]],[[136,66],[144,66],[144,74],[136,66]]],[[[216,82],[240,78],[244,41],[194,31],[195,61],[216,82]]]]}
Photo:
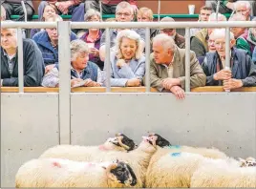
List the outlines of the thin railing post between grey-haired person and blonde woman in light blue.
{"type": "Polygon", "coordinates": [[[111,93],[111,85],[110,85],[110,29],[106,29],[106,50],[105,50],[105,64],[106,64],[106,92],[111,93]]]}

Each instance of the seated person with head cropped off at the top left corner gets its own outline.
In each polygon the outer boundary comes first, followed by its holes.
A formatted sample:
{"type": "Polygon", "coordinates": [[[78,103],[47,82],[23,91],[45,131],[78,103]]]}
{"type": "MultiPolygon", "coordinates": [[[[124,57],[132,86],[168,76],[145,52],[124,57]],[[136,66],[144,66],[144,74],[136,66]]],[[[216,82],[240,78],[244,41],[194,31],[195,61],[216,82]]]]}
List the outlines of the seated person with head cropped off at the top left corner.
{"type": "MultiPolygon", "coordinates": [[[[6,10],[6,19],[11,20],[11,14],[19,15],[18,21],[25,20],[25,14],[21,5],[22,0],[2,0],[1,5],[6,10]]],[[[27,19],[28,21],[32,20],[32,14],[34,12],[32,1],[26,0],[24,1],[26,10],[27,10],[27,19]]]]}

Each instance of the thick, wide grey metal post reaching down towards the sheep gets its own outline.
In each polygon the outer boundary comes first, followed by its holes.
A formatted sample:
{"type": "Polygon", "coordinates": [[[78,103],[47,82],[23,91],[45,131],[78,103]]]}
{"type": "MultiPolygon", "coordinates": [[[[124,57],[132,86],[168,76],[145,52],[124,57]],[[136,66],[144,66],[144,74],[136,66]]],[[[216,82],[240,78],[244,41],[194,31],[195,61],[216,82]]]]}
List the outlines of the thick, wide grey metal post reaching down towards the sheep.
{"type": "Polygon", "coordinates": [[[58,117],[60,144],[71,144],[71,51],[70,22],[57,22],[59,54],[58,117]]]}

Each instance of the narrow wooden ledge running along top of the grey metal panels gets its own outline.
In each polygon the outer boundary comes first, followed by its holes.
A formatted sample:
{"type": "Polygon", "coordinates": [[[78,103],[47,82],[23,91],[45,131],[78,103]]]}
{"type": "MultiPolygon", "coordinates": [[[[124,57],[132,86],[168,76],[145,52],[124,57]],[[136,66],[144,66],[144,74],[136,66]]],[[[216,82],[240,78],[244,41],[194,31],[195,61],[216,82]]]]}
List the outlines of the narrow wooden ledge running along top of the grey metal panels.
{"type": "MultiPolygon", "coordinates": [[[[18,87],[1,87],[1,93],[18,93],[18,87]]],[[[71,90],[73,93],[105,93],[105,87],[78,87],[71,90]]],[[[45,87],[25,87],[25,93],[58,93],[58,88],[45,87]]],[[[112,87],[113,93],[145,93],[145,87],[112,87]]],[[[152,93],[158,93],[155,88],[151,88],[152,93]]],[[[224,92],[221,86],[207,86],[191,89],[193,93],[221,93],[224,92]]],[[[256,92],[256,87],[243,87],[232,92],[256,92]]]]}

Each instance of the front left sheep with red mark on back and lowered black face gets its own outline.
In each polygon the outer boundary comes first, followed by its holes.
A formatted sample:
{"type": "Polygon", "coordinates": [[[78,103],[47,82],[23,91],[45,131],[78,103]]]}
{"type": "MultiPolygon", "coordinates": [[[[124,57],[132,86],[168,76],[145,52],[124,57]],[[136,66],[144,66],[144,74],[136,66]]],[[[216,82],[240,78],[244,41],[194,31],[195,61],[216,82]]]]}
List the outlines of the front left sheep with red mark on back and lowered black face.
{"type": "Polygon", "coordinates": [[[128,187],[137,183],[131,167],[122,161],[79,162],[38,158],[23,164],[16,176],[20,187],[128,187]]]}

